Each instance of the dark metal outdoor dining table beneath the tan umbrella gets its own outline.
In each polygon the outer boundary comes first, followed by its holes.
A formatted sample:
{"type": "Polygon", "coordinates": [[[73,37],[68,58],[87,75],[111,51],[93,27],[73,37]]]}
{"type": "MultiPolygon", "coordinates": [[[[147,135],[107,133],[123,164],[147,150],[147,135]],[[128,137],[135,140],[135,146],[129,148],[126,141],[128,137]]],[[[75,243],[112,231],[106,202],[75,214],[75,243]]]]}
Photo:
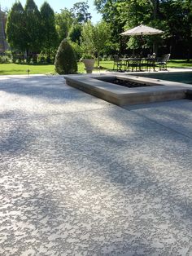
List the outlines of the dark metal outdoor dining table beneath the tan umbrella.
{"type": "Polygon", "coordinates": [[[144,70],[153,70],[155,71],[155,58],[153,57],[130,57],[130,58],[120,58],[119,59],[121,64],[124,65],[124,71],[131,70],[133,71],[134,68],[136,71],[143,71],[144,70]]]}

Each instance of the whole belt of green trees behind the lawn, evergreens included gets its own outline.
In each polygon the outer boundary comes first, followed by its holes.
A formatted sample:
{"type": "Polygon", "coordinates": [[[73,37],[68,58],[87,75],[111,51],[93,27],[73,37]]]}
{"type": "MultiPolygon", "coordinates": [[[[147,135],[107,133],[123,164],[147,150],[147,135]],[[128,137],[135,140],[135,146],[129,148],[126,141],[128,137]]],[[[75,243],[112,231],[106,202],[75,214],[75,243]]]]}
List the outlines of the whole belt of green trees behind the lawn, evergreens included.
{"type": "MultiPolygon", "coordinates": [[[[192,55],[191,0],[94,0],[103,20],[91,23],[88,2],[76,2],[71,9],[55,13],[47,2],[38,10],[34,0],[25,7],[15,2],[8,13],[7,41],[14,62],[50,63],[63,38],[68,38],[76,60],[83,54],[151,54],[153,44],[158,55],[190,60],[192,55]],[[163,36],[122,37],[126,29],[146,24],[164,30],[163,36]]],[[[99,62],[98,62],[99,64],[99,62]]]]}

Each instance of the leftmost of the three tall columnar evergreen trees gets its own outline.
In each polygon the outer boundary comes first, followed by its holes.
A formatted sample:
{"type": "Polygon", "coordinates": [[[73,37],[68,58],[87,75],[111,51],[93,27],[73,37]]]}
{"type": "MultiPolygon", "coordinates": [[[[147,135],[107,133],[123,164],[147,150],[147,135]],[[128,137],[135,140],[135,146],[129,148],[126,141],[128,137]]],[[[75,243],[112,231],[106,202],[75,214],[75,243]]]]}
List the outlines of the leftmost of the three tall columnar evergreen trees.
{"type": "Polygon", "coordinates": [[[24,53],[26,50],[26,29],[24,8],[20,2],[15,2],[8,14],[6,33],[11,49],[24,53]]]}

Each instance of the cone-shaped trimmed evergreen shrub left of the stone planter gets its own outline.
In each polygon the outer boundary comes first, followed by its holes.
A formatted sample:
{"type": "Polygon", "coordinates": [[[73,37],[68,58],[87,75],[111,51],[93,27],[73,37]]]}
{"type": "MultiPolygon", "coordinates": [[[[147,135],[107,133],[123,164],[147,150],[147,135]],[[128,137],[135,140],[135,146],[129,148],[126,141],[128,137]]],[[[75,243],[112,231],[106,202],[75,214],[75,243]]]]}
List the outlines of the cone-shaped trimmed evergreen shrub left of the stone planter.
{"type": "Polygon", "coordinates": [[[76,56],[67,39],[63,39],[59,45],[55,56],[55,71],[60,75],[77,71],[76,56]]]}

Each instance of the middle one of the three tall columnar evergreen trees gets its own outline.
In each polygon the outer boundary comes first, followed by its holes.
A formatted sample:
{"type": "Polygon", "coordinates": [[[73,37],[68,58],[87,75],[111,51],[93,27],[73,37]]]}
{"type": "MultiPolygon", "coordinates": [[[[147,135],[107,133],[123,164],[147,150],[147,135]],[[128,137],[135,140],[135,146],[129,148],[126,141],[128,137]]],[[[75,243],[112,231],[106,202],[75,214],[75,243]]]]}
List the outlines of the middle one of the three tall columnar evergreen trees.
{"type": "Polygon", "coordinates": [[[27,0],[24,7],[26,19],[27,54],[38,53],[41,50],[41,15],[33,0],[27,0]]]}

